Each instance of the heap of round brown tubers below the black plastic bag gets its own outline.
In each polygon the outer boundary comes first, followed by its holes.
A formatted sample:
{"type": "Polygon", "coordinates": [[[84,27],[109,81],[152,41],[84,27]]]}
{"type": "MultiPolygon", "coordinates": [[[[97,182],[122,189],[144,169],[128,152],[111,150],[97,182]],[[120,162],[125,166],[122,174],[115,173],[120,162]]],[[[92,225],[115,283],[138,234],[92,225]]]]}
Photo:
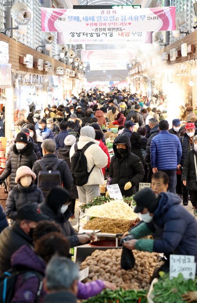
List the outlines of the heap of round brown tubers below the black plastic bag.
{"type": "Polygon", "coordinates": [[[149,289],[149,280],[154,268],[160,267],[163,261],[159,262],[159,254],[156,252],[132,252],[135,257],[134,268],[124,270],[120,267],[122,249],[95,250],[81,263],[81,269],[89,266],[89,275],[84,282],[102,279],[125,290],[149,289]]]}

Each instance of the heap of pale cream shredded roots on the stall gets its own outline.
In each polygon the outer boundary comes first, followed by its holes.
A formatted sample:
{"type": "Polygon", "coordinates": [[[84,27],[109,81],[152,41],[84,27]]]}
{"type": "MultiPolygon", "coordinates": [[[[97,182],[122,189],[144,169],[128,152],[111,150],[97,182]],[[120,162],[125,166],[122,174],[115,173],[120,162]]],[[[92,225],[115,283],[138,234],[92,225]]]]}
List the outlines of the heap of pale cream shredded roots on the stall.
{"type": "Polygon", "coordinates": [[[109,219],[137,219],[137,214],[123,200],[114,200],[99,206],[92,206],[88,209],[86,216],[104,217],[109,219]]]}

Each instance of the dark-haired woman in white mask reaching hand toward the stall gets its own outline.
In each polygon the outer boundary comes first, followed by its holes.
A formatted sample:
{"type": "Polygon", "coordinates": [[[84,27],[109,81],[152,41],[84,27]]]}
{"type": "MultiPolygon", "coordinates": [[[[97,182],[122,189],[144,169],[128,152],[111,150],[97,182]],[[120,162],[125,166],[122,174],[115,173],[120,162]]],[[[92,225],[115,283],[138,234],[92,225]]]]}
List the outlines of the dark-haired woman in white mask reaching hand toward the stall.
{"type": "Polygon", "coordinates": [[[70,204],[71,197],[69,192],[63,187],[55,186],[49,191],[39,208],[50,220],[60,225],[62,233],[70,243],[70,247],[74,247],[94,239],[94,235],[90,238],[88,233],[81,235],[76,233],[69,222],[69,218],[72,216],[70,204]]]}

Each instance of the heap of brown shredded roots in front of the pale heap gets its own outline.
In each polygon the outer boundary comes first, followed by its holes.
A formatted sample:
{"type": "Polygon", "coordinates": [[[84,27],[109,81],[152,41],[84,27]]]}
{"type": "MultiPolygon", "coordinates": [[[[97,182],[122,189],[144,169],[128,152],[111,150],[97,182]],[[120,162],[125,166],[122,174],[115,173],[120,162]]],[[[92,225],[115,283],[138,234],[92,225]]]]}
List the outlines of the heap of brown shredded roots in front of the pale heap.
{"type": "Polygon", "coordinates": [[[133,221],[121,219],[94,218],[84,226],[84,229],[100,229],[102,233],[124,234],[126,231],[128,231],[131,227],[134,226],[134,223],[138,222],[138,218],[133,221]]]}

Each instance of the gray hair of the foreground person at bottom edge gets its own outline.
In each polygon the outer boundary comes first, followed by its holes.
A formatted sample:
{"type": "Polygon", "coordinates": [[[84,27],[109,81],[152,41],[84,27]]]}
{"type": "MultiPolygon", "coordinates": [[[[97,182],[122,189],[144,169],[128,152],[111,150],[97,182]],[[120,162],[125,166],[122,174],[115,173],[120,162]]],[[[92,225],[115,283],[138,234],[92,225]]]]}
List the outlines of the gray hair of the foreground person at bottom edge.
{"type": "Polygon", "coordinates": [[[45,277],[48,290],[69,290],[78,280],[78,266],[66,257],[54,256],[47,265],[45,277]]]}

